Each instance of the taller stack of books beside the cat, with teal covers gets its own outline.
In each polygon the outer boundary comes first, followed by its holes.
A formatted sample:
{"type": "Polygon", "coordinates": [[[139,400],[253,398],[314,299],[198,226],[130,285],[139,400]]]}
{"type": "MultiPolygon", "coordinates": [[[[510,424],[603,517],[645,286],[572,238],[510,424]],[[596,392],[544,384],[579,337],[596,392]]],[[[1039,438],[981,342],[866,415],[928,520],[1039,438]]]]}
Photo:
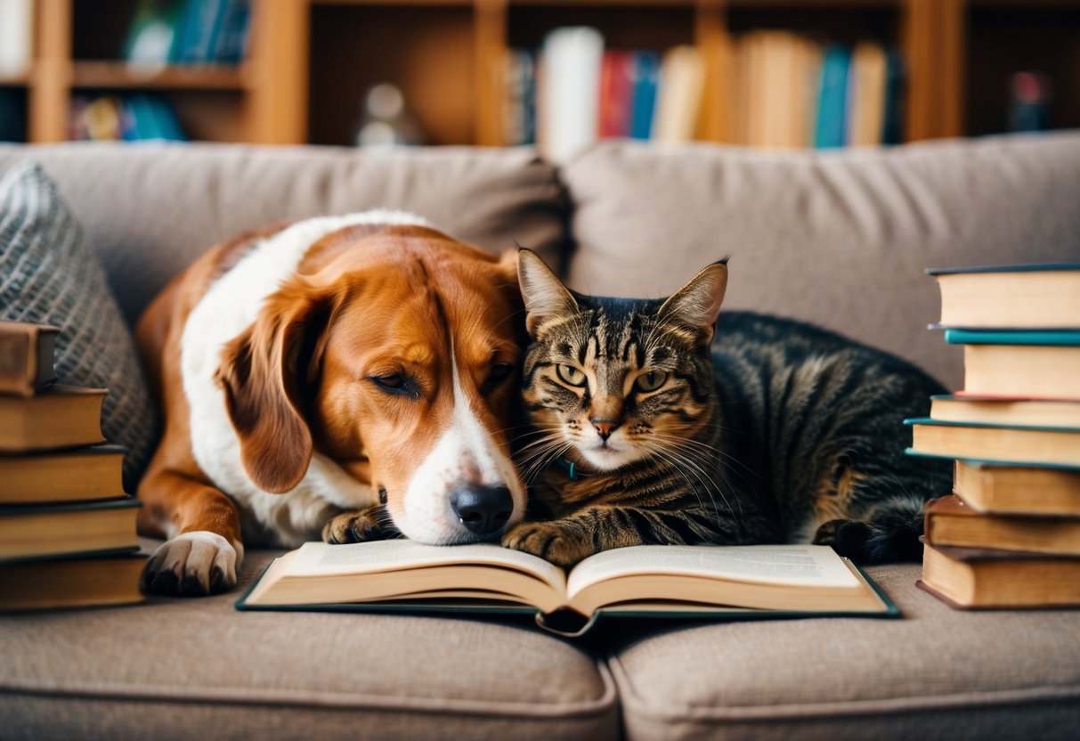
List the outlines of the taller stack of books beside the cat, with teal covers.
{"type": "Polygon", "coordinates": [[[956,459],[920,585],[959,607],[1080,605],[1080,264],[931,270],[964,388],[912,419],[956,459]]]}

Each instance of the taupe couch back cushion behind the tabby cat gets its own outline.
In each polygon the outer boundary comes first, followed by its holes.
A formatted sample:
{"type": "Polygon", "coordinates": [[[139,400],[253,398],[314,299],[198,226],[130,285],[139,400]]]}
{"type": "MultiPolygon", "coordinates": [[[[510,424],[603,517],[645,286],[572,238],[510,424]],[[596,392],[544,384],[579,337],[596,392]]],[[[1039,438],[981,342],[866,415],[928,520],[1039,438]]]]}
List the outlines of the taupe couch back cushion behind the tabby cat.
{"type": "Polygon", "coordinates": [[[729,308],[816,322],[947,386],[940,266],[1080,260],[1080,134],[770,152],[599,145],[563,177],[572,287],[661,296],[731,255],[729,308]]]}

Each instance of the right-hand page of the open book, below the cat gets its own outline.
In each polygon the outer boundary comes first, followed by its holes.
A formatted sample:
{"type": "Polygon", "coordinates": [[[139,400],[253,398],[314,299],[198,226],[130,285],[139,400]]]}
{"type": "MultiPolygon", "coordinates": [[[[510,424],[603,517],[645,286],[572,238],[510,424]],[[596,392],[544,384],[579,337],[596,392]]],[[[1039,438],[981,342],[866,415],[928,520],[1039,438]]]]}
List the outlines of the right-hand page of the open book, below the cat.
{"type": "Polygon", "coordinates": [[[573,597],[591,584],[642,575],[677,575],[746,583],[858,587],[827,545],[633,545],[578,564],[567,583],[573,597]]]}

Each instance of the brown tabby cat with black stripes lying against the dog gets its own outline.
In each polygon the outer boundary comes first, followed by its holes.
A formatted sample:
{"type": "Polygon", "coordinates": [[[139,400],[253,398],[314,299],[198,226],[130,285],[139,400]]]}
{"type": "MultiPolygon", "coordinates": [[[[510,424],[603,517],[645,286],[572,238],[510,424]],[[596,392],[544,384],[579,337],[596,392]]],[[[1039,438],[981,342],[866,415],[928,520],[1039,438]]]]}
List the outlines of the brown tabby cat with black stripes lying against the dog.
{"type": "Polygon", "coordinates": [[[920,556],[922,507],[951,474],[904,454],[902,420],[945,392],[929,375],[808,324],[720,313],[726,259],[665,300],[571,292],[527,250],[518,278],[532,503],[503,545],[564,567],[645,543],[920,556]]]}

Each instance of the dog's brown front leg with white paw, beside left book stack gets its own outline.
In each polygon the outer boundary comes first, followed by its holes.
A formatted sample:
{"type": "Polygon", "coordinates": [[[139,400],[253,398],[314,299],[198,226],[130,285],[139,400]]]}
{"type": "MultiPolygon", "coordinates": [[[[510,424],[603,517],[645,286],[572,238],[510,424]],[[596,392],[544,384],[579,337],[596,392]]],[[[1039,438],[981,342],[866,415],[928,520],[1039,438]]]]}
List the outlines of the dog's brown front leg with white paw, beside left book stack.
{"type": "Polygon", "coordinates": [[[143,569],[146,592],[206,595],[237,585],[244,557],[240,511],[218,489],[164,467],[139,484],[139,531],[172,536],[143,569]]]}

